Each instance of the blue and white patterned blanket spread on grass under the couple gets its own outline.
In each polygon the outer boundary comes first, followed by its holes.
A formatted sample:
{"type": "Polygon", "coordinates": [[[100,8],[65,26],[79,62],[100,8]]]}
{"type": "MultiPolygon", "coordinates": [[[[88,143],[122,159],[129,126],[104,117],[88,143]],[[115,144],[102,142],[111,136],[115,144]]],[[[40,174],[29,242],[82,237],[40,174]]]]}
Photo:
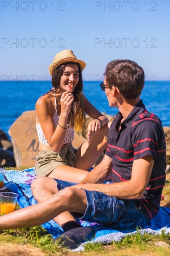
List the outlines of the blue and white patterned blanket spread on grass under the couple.
{"type": "MultiPolygon", "coordinates": [[[[23,171],[7,170],[5,172],[5,188],[8,188],[19,195],[17,202],[20,205],[20,208],[24,208],[37,203],[31,192],[31,183],[33,180],[35,180],[35,178],[36,176],[33,168],[23,171]]],[[[41,193],[44,192],[42,191],[41,193]]],[[[80,221],[80,224],[82,226],[91,226],[93,229],[95,229],[96,236],[92,241],[81,244],[77,249],[74,249],[73,251],[84,250],[84,245],[86,243],[111,243],[112,241],[118,242],[124,236],[135,234],[137,232],[130,232],[130,230],[120,232],[119,230],[105,228],[96,222],[80,221]]],[[[45,224],[42,224],[42,226],[48,231],[48,233],[52,234],[53,238],[63,233],[63,229],[54,221],[46,222],[45,224]]],[[[148,226],[146,226],[144,229],[141,229],[139,232],[142,234],[147,232],[154,235],[159,235],[162,233],[162,231],[164,231],[166,234],[170,233],[170,209],[164,207],[160,207],[157,216],[151,220],[148,226]]]]}

